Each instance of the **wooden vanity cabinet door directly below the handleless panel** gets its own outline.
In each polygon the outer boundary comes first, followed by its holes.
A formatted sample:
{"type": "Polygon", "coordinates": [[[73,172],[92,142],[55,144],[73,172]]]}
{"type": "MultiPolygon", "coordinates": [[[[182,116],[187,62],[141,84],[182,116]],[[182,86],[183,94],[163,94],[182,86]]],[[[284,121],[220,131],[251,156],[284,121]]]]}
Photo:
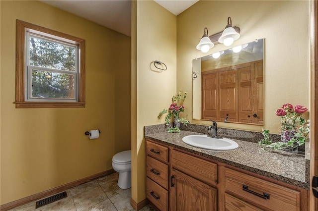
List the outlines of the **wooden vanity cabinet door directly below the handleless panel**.
{"type": "Polygon", "coordinates": [[[170,184],[171,211],[216,211],[217,190],[178,170],[172,169],[170,184]]]}

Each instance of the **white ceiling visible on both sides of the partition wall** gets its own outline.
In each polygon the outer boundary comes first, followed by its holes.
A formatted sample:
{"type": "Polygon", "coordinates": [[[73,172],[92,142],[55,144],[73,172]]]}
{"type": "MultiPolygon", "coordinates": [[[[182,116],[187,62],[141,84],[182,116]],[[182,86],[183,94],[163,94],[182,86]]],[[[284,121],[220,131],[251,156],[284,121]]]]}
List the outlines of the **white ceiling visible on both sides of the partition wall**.
{"type": "MultiPolygon", "coordinates": [[[[41,0],[124,35],[131,36],[131,0],[41,0]]],[[[155,0],[175,15],[198,0],[155,0]]]]}

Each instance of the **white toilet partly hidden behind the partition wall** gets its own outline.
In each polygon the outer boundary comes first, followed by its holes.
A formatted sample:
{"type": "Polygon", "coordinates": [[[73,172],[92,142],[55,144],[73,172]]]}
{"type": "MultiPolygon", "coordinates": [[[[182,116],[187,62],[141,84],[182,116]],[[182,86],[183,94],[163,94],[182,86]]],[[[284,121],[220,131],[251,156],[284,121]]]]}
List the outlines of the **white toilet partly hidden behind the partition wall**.
{"type": "Polygon", "coordinates": [[[113,169],[119,172],[118,187],[128,189],[131,187],[131,150],[117,153],[113,156],[113,169]]]}

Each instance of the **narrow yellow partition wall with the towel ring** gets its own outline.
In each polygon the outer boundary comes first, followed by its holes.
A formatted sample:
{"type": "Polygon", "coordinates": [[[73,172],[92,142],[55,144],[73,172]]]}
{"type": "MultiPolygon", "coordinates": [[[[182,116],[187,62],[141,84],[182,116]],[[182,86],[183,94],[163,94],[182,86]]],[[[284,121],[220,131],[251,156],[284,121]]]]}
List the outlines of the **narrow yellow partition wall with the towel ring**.
{"type": "MultiPolygon", "coordinates": [[[[157,119],[163,108],[171,104],[176,94],[176,16],[161,7],[155,1],[137,1],[133,3],[133,19],[136,18],[136,140],[132,138],[132,199],[141,202],[146,198],[146,143],[144,126],[163,123],[157,119]],[[135,7],[134,4],[136,3],[135,7]],[[150,67],[152,61],[166,64],[165,71],[150,67]]],[[[134,46],[135,44],[133,44],[134,46]]],[[[133,58],[134,60],[134,58],[133,58]]],[[[133,61],[134,63],[134,61],[133,61]]],[[[134,66],[134,65],[133,65],[134,66]]],[[[134,67],[133,67],[134,68],[134,67]]],[[[134,90],[132,90],[134,92],[134,90]]]]}

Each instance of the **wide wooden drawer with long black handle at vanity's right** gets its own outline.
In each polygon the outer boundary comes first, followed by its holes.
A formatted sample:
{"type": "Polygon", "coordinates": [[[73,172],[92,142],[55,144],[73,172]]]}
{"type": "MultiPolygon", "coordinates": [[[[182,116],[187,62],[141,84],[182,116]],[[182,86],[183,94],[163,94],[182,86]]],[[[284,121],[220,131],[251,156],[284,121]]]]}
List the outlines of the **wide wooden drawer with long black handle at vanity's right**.
{"type": "Polygon", "coordinates": [[[264,210],[300,210],[300,192],[225,168],[225,192],[264,210]]]}

